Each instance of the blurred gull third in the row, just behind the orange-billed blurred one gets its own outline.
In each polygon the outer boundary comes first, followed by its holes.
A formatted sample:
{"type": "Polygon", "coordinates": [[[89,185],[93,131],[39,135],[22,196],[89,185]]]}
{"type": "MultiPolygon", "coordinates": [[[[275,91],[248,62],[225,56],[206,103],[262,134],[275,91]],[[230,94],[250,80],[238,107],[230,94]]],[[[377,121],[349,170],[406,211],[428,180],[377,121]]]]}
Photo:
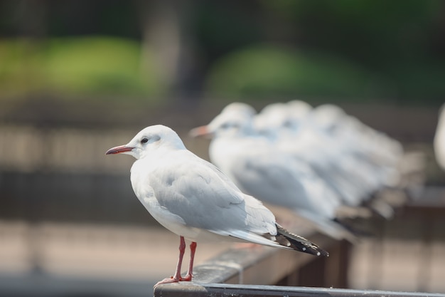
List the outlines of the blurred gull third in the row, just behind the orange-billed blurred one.
{"type": "Polygon", "coordinates": [[[302,101],[272,103],[254,118],[262,135],[273,141],[277,153],[285,153],[308,164],[345,204],[356,207],[369,192],[363,182],[354,182],[345,169],[348,155],[341,145],[312,123],[313,109],[302,101]]]}

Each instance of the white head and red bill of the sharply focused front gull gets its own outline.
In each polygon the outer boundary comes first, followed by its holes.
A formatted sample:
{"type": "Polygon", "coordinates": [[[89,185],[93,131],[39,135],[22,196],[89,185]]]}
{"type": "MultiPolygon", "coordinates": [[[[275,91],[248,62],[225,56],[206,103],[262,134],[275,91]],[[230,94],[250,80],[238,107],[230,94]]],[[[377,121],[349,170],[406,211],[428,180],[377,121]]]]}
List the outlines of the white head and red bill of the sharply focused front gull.
{"type": "Polygon", "coordinates": [[[139,160],[160,147],[173,150],[186,148],[181,138],[171,128],[163,125],[153,125],[137,133],[127,145],[110,148],[105,155],[127,154],[139,160]]]}

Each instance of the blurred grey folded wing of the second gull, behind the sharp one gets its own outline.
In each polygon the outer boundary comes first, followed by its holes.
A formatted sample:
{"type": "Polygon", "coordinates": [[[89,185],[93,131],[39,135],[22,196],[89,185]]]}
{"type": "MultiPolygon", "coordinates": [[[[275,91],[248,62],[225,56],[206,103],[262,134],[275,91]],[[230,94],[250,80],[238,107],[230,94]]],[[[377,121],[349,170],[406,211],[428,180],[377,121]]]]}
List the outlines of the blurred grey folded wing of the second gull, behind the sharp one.
{"type": "Polygon", "coordinates": [[[313,173],[310,167],[282,155],[237,162],[232,174],[248,194],[270,204],[289,209],[306,209],[328,217],[340,202],[338,196],[313,173]]]}

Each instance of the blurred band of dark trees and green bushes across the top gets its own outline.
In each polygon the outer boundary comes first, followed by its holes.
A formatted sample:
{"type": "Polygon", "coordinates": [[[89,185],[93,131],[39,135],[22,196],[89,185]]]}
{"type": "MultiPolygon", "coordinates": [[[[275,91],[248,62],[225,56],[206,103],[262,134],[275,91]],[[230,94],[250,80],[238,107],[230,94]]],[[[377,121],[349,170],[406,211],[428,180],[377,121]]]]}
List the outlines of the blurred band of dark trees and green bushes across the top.
{"type": "Polygon", "coordinates": [[[0,1],[0,95],[436,104],[445,2],[0,1]]]}

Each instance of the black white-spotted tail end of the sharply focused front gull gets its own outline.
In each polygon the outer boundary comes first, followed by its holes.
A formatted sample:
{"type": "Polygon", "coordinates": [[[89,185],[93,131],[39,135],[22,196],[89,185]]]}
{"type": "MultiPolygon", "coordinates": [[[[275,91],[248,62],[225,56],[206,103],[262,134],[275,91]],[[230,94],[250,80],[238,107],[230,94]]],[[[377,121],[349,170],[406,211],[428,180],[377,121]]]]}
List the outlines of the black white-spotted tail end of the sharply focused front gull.
{"type": "Polygon", "coordinates": [[[329,256],[327,251],[313,244],[313,242],[308,239],[287,231],[279,224],[276,225],[277,235],[275,237],[277,243],[280,245],[315,256],[329,256]]]}

